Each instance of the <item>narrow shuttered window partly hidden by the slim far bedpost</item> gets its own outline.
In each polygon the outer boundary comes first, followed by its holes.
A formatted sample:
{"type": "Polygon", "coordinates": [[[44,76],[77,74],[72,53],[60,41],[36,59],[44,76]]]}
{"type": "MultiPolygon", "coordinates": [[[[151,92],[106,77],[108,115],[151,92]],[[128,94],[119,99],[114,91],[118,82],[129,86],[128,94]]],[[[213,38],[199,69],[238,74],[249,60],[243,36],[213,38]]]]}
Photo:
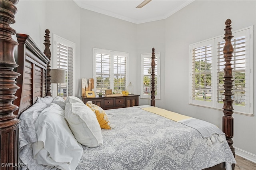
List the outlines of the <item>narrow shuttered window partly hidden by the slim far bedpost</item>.
{"type": "MultiPolygon", "coordinates": [[[[151,98],[151,59],[152,54],[141,54],[140,97],[151,98]]],[[[155,53],[155,95],[160,99],[160,53],[155,53]]]]}

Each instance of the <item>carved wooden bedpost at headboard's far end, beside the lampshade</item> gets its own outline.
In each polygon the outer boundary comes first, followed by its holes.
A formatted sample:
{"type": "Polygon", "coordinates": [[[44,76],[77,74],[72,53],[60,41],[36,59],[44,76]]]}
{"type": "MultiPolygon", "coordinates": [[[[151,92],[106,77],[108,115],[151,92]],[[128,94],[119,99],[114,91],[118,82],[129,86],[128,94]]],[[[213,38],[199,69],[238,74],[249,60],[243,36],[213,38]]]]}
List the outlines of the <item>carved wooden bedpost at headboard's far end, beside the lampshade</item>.
{"type": "Polygon", "coordinates": [[[44,49],[44,54],[46,55],[46,57],[50,60],[49,63],[47,63],[47,79],[46,79],[46,88],[47,88],[47,96],[52,96],[51,93],[51,69],[50,69],[50,62],[51,62],[51,51],[50,51],[50,31],[48,29],[45,30],[45,40],[44,40],[44,45],[45,45],[45,49],[44,49]]]}

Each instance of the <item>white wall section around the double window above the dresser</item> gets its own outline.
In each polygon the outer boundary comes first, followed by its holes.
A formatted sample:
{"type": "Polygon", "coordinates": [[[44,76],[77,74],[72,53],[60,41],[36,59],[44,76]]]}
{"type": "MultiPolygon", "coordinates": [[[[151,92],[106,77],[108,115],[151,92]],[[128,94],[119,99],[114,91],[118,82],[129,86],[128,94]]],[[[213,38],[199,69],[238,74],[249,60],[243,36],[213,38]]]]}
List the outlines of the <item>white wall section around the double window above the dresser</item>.
{"type": "MultiPolygon", "coordinates": [[[[93,48],[129,53],[128,81],[136,87],[138,67],[136,53],[136,24],[117,18],[81,9],[81,57],[80,81],[92,78],[93,48]]],[[[81,87],[81,86],[80,86],[81,87]]],[[[135,93],[139,93],[134,88],[135,93]]],[[[82,95],[80,90],[80,96],[82,95]]]]}

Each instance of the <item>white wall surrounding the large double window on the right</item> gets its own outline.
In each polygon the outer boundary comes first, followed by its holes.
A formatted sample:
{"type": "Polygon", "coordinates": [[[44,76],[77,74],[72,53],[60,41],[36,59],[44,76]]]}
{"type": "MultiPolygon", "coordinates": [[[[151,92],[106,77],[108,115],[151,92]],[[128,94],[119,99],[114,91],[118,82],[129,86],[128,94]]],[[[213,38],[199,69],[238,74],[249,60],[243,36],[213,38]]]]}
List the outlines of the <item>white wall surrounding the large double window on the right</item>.
{"type": "MultiPolygon", "coordinates": [[[[223,35],[226,19],[233,30],[254,26],[256,56],[256,1],[194,1],[166,19],[165,108],[203,119],[222,128],[222,111],[188,105],[188,45],[223,35]],[[175,81],[174,81],[175,80],[175,81]],[[170,87],[170,88],[169,88],[170,87]]],[[[256,154],[256,59],[254,57],[254,117],[234,114],[234,145],[256,154]]]]}

